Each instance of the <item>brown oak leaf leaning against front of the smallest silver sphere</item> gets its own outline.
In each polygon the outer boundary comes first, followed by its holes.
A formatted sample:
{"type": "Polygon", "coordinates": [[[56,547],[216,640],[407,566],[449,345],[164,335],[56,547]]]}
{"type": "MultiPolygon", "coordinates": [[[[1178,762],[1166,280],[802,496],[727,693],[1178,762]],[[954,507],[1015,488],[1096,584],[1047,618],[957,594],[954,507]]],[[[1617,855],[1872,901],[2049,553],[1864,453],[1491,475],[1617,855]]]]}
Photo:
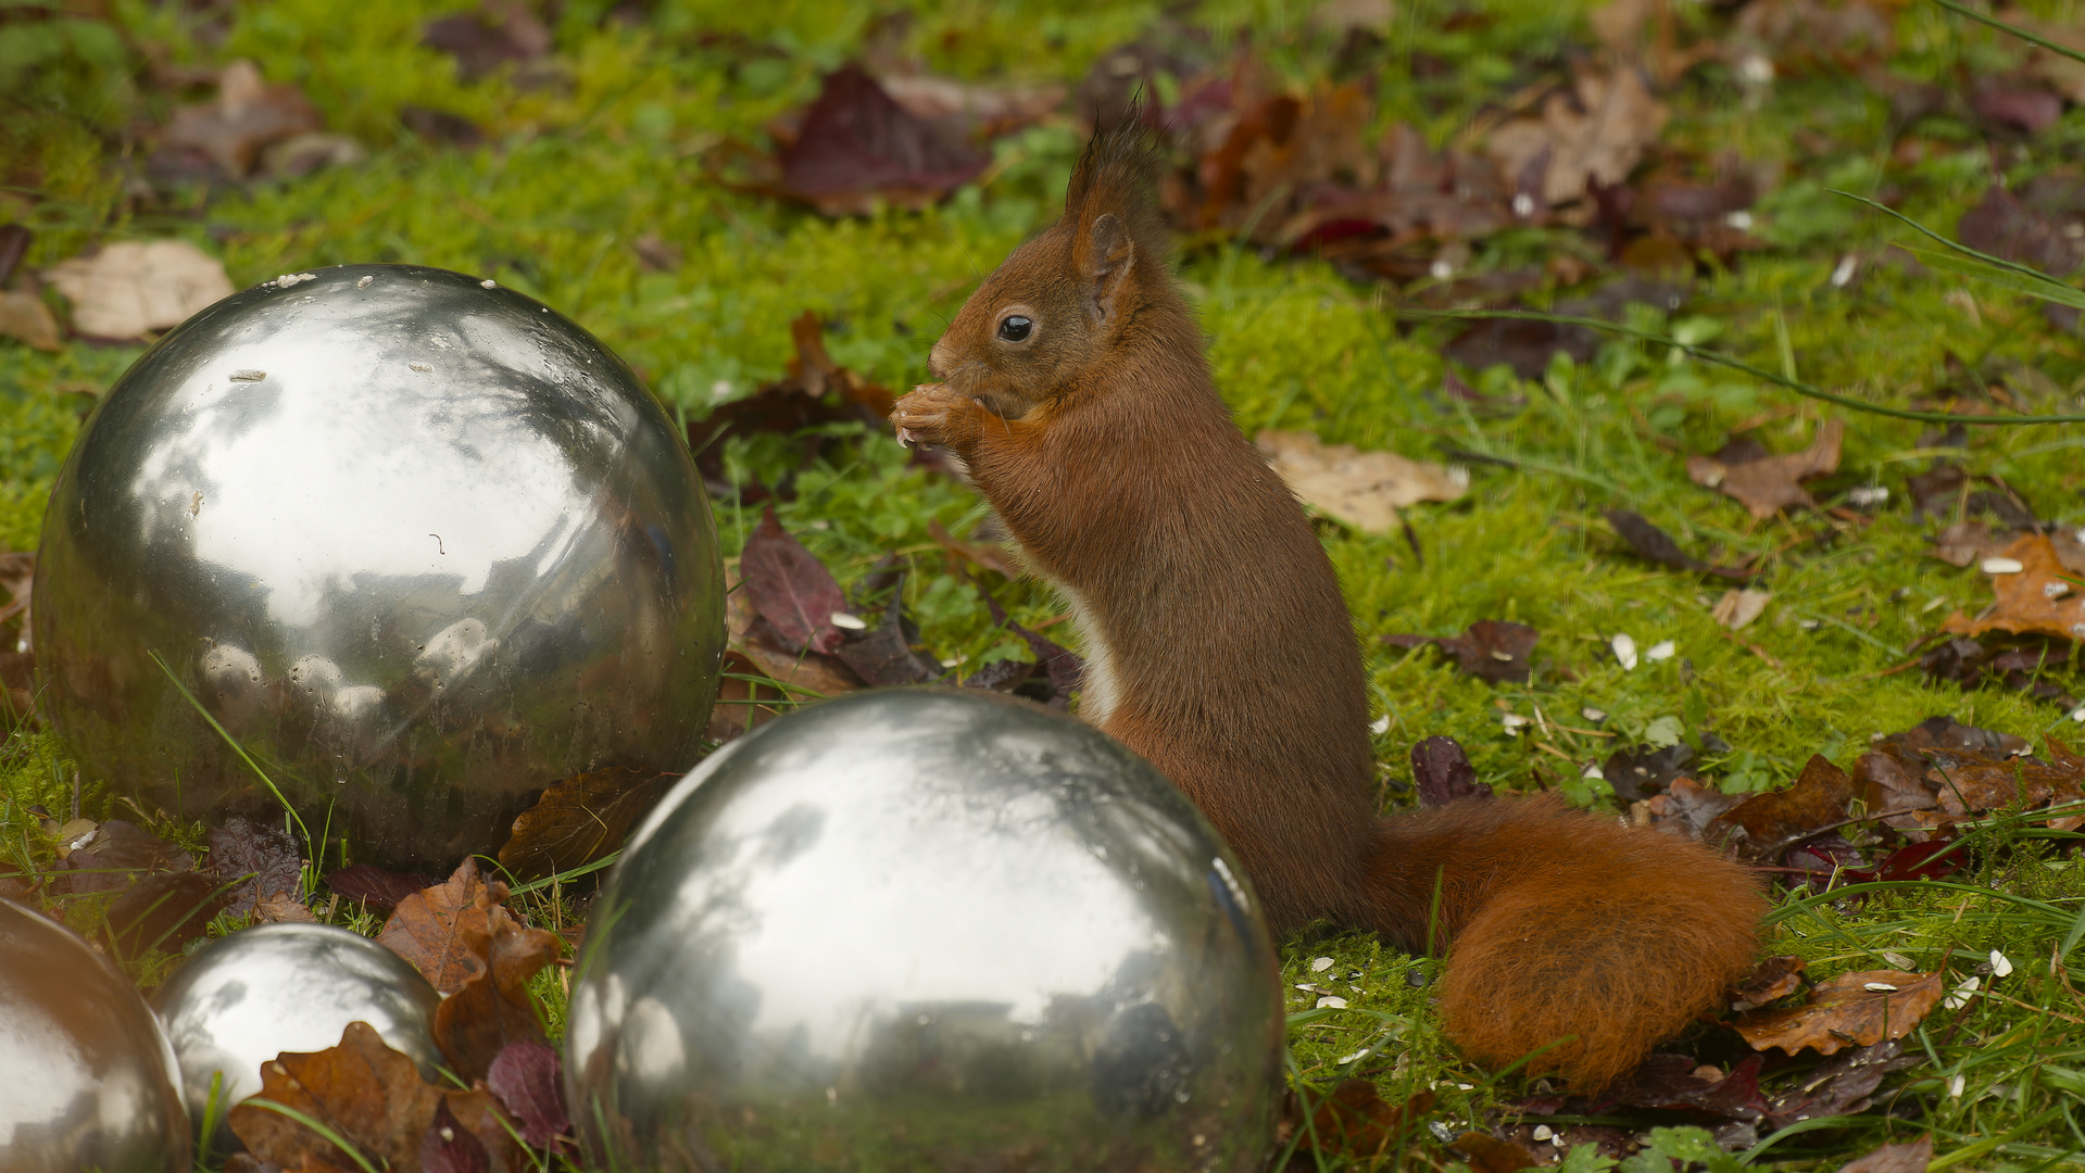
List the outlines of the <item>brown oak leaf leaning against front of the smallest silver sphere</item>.
{"type": "Polygon", "coordinates": [[[373,1163],[411,1169],[440,1098],[421,1081],[419,1067],[384,1046],[369,1023],[348,1023],[338,1046],[263,1063],[261,1094],[236,1104],[227,1123],[259,1160],[288,1169],[306,1158],[359,1167],[319,1133],[254,1104],[269,1100],[323,1123],[373,1163]]]}

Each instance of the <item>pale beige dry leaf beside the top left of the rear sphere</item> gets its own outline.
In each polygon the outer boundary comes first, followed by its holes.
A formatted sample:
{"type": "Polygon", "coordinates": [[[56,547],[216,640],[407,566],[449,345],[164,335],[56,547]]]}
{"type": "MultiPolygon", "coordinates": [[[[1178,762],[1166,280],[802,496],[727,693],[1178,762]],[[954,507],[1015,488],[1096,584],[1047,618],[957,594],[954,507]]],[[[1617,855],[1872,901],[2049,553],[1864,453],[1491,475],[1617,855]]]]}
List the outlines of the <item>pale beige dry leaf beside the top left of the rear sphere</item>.
{"type": "Polygon", "coordinates": [[[88,338],[144,338],[231,296],[225,267],[186,240],[125,240],[44,273],[88,338]]]}

